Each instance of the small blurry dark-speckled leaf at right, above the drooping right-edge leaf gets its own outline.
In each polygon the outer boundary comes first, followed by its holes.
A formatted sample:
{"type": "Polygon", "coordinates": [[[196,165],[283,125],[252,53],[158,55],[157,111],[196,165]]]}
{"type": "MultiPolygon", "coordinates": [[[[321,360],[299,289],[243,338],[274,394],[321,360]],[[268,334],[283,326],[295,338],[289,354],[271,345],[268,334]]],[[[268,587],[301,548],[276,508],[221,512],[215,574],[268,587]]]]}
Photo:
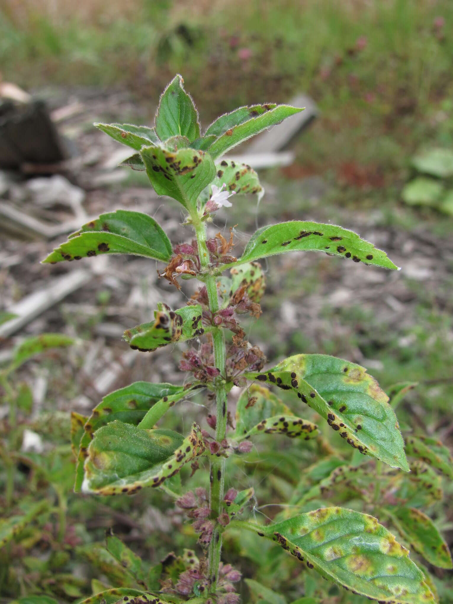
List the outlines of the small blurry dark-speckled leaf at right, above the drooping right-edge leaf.
{"type": "Polygon", "coordinates": [[[424,461],[412,461],[410,474],[394,477],[392,495],[409,507],[428,507],[443,498],[442,478],[424,461]]]}

